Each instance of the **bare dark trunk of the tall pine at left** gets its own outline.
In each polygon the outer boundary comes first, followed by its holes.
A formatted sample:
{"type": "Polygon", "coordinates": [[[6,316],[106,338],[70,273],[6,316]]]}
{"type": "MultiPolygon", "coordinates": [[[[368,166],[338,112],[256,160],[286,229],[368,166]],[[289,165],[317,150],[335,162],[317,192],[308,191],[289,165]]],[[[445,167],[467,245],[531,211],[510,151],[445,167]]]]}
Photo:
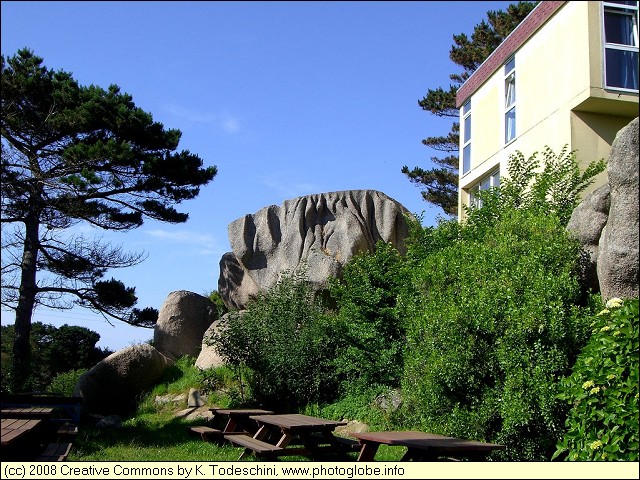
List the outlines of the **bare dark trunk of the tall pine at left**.
{"type": "Polygon", "coordinates": [[[16,306],[15,339],[13,342],[11,369],[11,390],[13,393],[25,390],[31,373],[31,316],[33,315],[37,294],[38,230],[38,217],[30,215],[25,222],[24,251],[21,264],[22,277],[18,305],[16,306]]]}

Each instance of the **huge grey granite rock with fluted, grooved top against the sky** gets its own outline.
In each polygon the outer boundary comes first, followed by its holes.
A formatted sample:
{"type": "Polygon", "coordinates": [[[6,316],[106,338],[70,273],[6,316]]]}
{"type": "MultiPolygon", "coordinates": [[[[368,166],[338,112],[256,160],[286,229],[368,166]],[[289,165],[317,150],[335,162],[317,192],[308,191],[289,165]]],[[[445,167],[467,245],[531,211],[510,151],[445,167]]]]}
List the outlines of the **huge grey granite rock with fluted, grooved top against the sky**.
{"type": "Polygon", "coordinates": [[[267,291],[281,272],[307,267],[318,290],[356,254],[378,241],[404,251],[408,210],[375,190],[347,190],[287,200],[233,221],[232,252],[220,261],[218,292],[225,305],[241,310],[267,291]]]}

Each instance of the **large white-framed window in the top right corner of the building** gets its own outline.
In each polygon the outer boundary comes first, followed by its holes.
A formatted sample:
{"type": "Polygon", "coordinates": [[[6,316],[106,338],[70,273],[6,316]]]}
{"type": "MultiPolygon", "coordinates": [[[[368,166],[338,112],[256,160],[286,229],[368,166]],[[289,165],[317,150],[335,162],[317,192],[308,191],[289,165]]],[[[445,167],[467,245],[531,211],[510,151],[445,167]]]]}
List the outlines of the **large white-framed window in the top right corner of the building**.
{"type": "Polygon", "coordinates": [[[638,2],[602,2],[605,87],[638,91],[638,2]]]}

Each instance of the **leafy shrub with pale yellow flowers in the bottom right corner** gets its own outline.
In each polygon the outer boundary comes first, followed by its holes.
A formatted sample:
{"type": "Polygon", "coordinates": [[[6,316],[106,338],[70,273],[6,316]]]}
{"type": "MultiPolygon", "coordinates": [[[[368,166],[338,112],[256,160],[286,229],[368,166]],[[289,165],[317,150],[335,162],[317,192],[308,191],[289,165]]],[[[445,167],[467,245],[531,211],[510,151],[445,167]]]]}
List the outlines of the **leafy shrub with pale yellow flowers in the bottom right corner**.
{"type": "Polygon", "coordinates": [[[553,458],[638,461],[638,299],[611,299],[561,381],[570,404],[567,431],[553,458]]]}

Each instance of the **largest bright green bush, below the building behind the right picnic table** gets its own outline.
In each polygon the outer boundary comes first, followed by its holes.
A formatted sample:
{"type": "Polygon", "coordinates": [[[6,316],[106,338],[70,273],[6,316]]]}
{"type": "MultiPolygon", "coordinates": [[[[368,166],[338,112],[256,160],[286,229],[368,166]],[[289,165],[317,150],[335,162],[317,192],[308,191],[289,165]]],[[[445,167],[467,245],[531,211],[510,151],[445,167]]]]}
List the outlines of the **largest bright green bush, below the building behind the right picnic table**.
{"type": "Polygon", "coordinates": [[[404,422],[506,444],[502,458],[548,459],[564,422],[557,378],[587,335],[577,244],[557,217],[530,209],[425,237],[412,247],[431,249],[414,271],[419,294],[401,300],[404,422]]]}

